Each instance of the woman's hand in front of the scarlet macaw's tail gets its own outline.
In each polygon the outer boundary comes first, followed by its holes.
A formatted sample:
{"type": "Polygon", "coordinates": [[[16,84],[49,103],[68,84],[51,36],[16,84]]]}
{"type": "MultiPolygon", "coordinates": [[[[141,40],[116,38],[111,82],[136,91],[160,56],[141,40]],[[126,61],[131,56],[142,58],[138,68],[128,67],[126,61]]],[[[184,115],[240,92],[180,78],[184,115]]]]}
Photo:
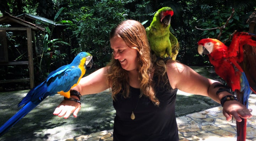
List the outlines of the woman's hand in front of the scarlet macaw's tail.
{"type": "Polygon", "coordinates": [[[240,102],[236,100],[226,101],[223,105],[223,114],[227,121],[232,119],[232,116],[236,121],[241,122],[241,118],[251,118],[251,112],[240,102]]]}

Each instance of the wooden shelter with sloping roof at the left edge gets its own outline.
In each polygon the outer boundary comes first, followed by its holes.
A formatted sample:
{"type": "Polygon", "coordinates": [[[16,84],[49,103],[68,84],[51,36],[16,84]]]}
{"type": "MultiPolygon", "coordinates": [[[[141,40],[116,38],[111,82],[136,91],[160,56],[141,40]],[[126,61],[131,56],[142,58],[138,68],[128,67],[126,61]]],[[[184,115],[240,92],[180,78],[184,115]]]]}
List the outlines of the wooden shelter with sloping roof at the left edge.
{"type": "Polygon", "coordinates": [[[29,78],[18,79],[18,80],[2,80],[0,83],[10,83],[10,82],[23,82],[29,81],[30,88],[34,87],[34,69],[33,69],[33,43],[34,43],[34,31],[45,30],[35,24],[27,22],[23,19],[17,18],[10,15],[9,13],[4,13],[0,16],[0,25],[9,24],[9,27],[0,27],[0,65],[28,65],[29,66],[29,78]],[[10,61],[8,60],[7,45],[6,45],[6,31],[26,31],[27,33],[27,51],[28,60],[27,61],[10,61]]]}

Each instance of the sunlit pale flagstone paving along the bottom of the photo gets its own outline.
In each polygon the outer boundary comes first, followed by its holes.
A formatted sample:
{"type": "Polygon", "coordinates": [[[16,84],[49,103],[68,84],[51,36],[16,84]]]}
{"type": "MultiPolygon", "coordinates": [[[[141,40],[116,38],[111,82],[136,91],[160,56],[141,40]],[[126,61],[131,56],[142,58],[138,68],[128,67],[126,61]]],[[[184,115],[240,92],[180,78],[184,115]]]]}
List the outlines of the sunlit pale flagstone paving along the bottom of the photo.
{"type": "MultiPolygon", "coordinates": [[[[249,99],[253,117],[247,119],[246,141],[256,141],[256,95],[249,99]]],[[[236,141],[236,121],[226,121],[222,107],[177,117],[180,141],[236,141]]],[[[113,141],[113,130],[105,130],[92,134],[76,136],[58,141],[113,141]]]]}

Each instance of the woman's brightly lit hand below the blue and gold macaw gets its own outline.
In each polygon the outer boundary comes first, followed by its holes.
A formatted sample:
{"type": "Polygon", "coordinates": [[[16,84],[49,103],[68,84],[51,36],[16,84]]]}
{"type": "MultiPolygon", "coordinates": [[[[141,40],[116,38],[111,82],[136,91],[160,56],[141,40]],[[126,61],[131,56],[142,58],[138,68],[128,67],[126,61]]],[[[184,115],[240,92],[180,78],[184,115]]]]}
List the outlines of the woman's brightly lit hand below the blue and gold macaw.
{"type": "Polygon", "coordinates": [[[76,118],[78,112],[81,109],[81,105],[75,101],[63,100],[58,107],[53,112],[54,115],[63,117],[66,119],[73,113],[73,116],[76,118]]]}

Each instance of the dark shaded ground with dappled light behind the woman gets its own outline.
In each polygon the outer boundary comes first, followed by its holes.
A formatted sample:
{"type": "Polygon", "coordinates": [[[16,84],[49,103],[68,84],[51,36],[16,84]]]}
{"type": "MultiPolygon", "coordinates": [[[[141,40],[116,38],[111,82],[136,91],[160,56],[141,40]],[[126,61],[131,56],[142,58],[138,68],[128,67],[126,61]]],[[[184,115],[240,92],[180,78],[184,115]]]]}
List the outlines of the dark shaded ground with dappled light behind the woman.
{"type": "MultiPolygon", "coordinates": [[[[27,92],[28,90],[0,93],[0,126],[20,109],[17,108],[17,104],[27,92]]],[[[46,98],[1,136],[0,140],[54,141],[113,128],[115,110],[109,90],[82,96],[82,109],[77,118],[71,116],[64,119],[52,114],[62,99],[63,97],[59,95],[46,98]]],[[[176,116],[184,116],[216,106],[219,104],[210,98],[178,91],[176,116]]]]}

